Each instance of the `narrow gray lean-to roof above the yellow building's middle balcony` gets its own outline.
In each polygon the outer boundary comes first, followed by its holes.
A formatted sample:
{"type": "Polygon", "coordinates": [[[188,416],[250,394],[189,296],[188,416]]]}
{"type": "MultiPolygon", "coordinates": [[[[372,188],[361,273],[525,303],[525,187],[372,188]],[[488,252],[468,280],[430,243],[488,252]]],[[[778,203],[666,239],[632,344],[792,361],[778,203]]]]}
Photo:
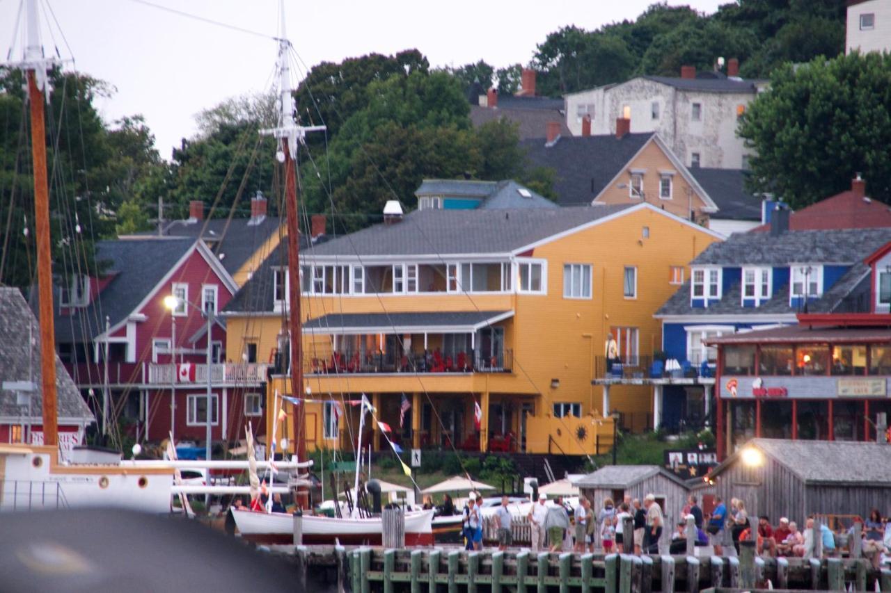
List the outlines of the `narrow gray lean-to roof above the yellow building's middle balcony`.
{"type": "Polygon", "coordinates": [[[485,327],[507,311],[459,311],[418,313],[329,313],[307,320],[303,329],[312,333],[315,329],[392,329],[395,333],[415,333],[428,328],[476,328],[485,327]]]}

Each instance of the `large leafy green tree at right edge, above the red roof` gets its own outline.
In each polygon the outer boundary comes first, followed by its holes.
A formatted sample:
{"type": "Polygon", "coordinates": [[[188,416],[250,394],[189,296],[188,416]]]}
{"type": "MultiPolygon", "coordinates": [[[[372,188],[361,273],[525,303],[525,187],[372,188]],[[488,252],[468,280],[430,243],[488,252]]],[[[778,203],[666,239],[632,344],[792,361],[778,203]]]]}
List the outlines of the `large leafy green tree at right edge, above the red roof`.
{"type": "Polygon", "coordinates": [[[818,57],[774,71],[749,105],[739,134],[756,191],[803,207],[850,187],[862,173],[871,197],[891,201],[891,55],[818,57]]]}

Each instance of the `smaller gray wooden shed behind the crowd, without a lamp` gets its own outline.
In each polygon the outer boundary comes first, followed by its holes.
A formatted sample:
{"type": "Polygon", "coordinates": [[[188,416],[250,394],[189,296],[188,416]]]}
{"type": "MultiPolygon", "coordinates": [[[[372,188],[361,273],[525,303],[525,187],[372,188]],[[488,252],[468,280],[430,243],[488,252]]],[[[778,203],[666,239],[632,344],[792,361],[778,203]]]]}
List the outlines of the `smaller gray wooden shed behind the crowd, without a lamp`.
{"type": "Polygon", "coordinates": [[[674,525],[681,518],[687,501],[687,483],[660,466],[606,466],[575,482],[582,496],[591,500],[594,513],[603,508],[603,500],[610,498],[617,505],[625,498],[640,499],[647,494],[656,501],[666,517],[663,537],[670,537],[674,525]]]}

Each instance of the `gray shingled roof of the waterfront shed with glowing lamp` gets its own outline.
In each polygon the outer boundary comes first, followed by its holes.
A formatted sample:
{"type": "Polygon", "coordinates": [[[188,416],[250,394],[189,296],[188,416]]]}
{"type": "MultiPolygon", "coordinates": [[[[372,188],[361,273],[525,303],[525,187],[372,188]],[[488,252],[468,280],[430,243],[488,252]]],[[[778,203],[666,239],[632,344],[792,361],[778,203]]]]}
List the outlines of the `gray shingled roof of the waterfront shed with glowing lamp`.
{"type": "MultiPolygon", "coordinates": [[[[891,486],[891,446],[887,444],[752,439],[747,446],[762,451],[806,483],[891,486]]],[[[740,451],[715,467],[712,475],[739,459],[740,451]]]]}

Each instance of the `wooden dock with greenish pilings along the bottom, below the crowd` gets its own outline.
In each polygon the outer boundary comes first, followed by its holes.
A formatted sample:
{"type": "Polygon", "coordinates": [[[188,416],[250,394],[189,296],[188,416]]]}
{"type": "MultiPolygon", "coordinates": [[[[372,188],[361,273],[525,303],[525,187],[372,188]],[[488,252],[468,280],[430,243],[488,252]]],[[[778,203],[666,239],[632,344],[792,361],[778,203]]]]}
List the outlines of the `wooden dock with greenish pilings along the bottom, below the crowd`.
{"type": "MultiPolygon", "coordinates": [[[[282,549],[276,551],[284,551],[282,549]]],[[[657,591],[891,591],[891,570],[828,558],[608,556],[456,548],[298,546],[298,581],[324,578],[351,593],[655,593],[657,591]]]]}

